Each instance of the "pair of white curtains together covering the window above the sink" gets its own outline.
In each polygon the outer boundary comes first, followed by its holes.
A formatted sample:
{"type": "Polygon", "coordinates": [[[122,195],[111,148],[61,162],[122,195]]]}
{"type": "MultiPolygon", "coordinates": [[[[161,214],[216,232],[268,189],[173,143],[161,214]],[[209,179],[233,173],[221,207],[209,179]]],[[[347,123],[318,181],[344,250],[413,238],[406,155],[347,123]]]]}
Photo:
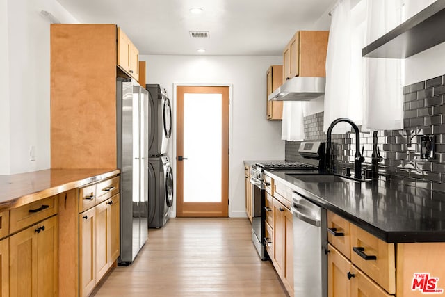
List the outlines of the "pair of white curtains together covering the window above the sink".
{"type": "MultiPolygon", "coordinates": [[[[351,7],[350,0],[339,0],[332,9],[324,131],[336,118],[350,118],[362,131],[403,127],[403,61],[362,57],[363,47],[401,23],[401,1],[362,0],[351,7]]],[[[337,126],[334,133],[350,131],[337,126]]]]}

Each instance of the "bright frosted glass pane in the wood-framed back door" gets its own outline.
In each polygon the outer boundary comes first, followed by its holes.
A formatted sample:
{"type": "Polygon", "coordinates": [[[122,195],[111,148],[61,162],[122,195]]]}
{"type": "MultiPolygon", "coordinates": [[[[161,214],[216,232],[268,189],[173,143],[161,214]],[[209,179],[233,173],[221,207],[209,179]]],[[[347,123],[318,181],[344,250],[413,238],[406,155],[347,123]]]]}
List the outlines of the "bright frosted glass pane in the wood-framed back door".
{"type": "Polygon", "coordinates": [[[184,93],[184,202],[221,202],[220,93],[184,93]]]}

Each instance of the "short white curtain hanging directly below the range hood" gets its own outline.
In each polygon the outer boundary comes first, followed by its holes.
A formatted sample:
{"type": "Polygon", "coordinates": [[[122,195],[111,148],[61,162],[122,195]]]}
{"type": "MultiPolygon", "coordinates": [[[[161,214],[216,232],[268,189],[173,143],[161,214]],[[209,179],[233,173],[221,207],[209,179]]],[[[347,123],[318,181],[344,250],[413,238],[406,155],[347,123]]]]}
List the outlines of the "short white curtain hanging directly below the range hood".
{"type": "Polygon", "coordinates": [[[286,141],[305,139],[304,109],[305,102],[284,101],[281,138],[286,141]]]}

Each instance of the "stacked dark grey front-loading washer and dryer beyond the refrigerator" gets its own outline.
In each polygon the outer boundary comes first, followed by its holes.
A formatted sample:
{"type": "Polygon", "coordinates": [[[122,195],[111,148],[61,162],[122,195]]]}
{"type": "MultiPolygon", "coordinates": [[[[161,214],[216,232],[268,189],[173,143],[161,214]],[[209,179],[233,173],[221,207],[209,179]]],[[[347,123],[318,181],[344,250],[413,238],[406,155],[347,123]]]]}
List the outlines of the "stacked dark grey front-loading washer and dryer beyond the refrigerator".
{"type": "Polygon", "coordinates": [[[173,172],[167,156],[172,134],[172,111],[165,88],[147,84],[149,93],[148,227],[160,228],[168,221],[173,203],[173,172]]]}

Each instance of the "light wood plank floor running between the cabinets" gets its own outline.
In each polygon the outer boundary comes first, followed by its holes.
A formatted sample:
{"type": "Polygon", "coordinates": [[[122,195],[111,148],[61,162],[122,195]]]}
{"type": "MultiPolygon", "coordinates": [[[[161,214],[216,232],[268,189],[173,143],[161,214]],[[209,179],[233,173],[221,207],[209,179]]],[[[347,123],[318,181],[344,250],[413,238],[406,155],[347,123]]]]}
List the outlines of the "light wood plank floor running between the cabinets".
{"type": "Polygon", "coordinates": [[[150,229],[128,267],[118,266],[92,296],[287,296],[261,261],[247,218],[172,218],[150,229]]]}

